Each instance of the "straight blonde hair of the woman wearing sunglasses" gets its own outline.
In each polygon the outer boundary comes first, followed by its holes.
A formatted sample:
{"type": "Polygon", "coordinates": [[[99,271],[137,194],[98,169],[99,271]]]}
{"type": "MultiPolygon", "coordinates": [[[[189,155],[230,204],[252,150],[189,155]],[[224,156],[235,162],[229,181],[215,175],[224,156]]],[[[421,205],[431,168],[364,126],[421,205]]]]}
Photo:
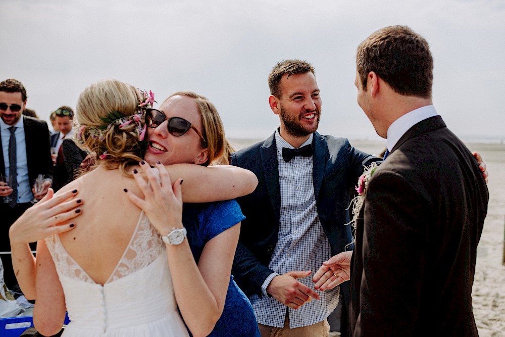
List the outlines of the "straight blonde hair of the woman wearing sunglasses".
{"type": "MultiPolygon", "coordinates": [[[[206,97],[192,91],[179,91],[170,95],[168,99],[174,96],[185,96],[192,98],[200,112],[202,134],[206,141],[200,140],[202,149],[207,149],[208,160],[201,164],[203,166],[229,164],[229,157],[234,152],[233,147],[226,139],[224,125],[219,113],[206,97]]],[[[166,101],[166,100],[165,100],[166,101]]]]}

